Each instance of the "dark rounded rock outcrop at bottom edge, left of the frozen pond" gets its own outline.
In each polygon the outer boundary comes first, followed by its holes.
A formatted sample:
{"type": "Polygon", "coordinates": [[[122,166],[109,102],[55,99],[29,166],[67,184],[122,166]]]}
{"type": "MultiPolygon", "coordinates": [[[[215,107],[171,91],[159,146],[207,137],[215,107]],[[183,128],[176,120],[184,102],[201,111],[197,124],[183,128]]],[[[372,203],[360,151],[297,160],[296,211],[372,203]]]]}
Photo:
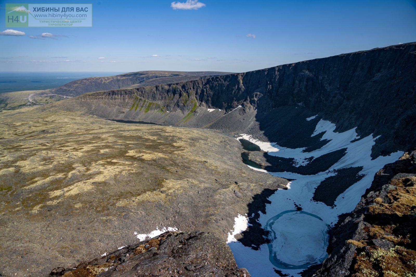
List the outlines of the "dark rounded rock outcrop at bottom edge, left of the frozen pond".
{"type": "Polygon", "coordinates": [[[57,267],[50,273],[50,276],[60,275],[250,277],[245,268],[237,267],[230,247],[220,237],[201,231],[165,232],[81,264],[76,269],[57,267]]]}

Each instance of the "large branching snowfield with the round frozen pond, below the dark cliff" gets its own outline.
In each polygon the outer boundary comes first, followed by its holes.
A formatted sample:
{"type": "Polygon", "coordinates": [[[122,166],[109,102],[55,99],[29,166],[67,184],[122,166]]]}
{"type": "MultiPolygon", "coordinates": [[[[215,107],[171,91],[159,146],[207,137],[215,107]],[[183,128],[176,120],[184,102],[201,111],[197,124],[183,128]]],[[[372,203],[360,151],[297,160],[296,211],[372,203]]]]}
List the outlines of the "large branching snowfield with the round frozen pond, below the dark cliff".
{"type": "MultiPolygon", "coordinates": [[[[397,151],[389,156],[379,156],[372,160],[371,148],[378,136],[373,137],[371,134],[358,140],[356,128],[339,133],[334,131],[335,127],[335,124],[321,119],[311,136],[324,132],[321,140],[327,139],[329,141],[322,148],[309,153],[302,152],[305,148],[285,148],[277,143],[255,140],[247,134],[242,134],[239,137],[257,144],[269,155],[294,158],[297,166],[306,165],[308,158],[312,156],[317,158],[326,153],[347,148],[345,156],[337,163],[327,171],[315,175],[268,172],[273,176],[294,179],[289,183],[288,190],[277,190],[268,198],[271,204],[266,204],[265,214],[260,212],[258,222],[262,228],[271,231],[269,233],[272,238],[271,243],[261,245],[260,249],[256,251],[238,242],[234,236],[245,230],[248,225],[248,219],[241,215],[235,218],[234,231],[228,234],[227,243],[233,251],[238,266],[247,268],[253,277],[274,276],[273,268],[276,267],[285,274],[300,276],[301,268],[306,267],[304,262],[309,264],[322,262],[323,255],[326,255],[327,226],[333,226],[337,222],[338,215],[348,213],[355,208],[361,195],[371,185],[374,174],[380,168],[386,163],[396,161],[403,155],[403,152],[397,151]],[[363,167],[359,174],[364,174],[364,178],[341,193],[335,201],[334,207],[329,207],[322,202],[311,201],[315,188],[325,178],[334,176],[334,170],[357,166],[363,167]],[[296,212],[294,203],[300,205],[302,211],[311,216],[306,216],[305,213],[294,213],[296,212]],[[287,215],[282,215],[282,213],[287,213],[287,215]],[[281,217],[276,219],[277,215],[281,215],[281,217]],[[274,221],[273,218],[275,218],[274,221]],[[322,220],[317,220],[317,218],[322,220]],[[273,224],[270,224],[272,221],[273,224]],[[275,237],[272,237],[273,233],[276,234],[275,237]],[[308,239],[304,240],[306,237],[308,239]]],[[[250,168],[267,172],[264,169],[250,168]]]]}

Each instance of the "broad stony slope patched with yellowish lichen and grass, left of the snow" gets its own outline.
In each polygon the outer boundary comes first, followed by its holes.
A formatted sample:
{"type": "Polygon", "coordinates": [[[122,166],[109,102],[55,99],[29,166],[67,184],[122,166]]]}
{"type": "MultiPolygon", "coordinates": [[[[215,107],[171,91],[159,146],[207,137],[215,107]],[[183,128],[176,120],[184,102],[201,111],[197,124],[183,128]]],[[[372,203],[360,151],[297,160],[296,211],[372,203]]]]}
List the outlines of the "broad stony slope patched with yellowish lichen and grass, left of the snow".
{"type": "Polygon", "coordinates": [[[0,272],[6,276],[45,276],[156,227],[225,239],[254,195],[287,183],[245,166],[240,143],[218,132],[40,110],[0,113],[0,272]]]}

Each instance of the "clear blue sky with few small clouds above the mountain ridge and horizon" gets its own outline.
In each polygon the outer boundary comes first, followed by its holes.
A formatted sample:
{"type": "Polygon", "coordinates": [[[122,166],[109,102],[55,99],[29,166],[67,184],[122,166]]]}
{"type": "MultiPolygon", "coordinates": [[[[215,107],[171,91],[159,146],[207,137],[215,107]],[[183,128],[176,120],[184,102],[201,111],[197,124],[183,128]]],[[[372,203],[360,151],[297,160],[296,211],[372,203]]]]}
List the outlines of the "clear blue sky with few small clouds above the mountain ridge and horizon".
{"type": "Polygon", "coordinates": [[[59,1],[0,0],[0,32],[25,32],[0,35],[0,71],[246,72],[416,41],[416,0],[62,1],[81,2],[93,27],[5,27],[5,3],[59,1]]]}

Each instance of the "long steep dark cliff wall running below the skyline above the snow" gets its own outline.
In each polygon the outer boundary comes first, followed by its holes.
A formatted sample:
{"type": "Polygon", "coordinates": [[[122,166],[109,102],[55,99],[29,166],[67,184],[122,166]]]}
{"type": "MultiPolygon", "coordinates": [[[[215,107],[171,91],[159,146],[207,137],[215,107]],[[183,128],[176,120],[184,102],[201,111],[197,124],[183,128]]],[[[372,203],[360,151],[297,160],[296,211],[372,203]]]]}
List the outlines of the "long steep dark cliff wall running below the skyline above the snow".
{"type": "Polygon", "coordinates": [[[337,131],[357,127],[360,136],[381,135],[376,157],[416,145],[415,84],[412,42],[184,83],[88,93],[72,103],[104,118],[212,129],[237,124],[235,131],[253,122],[265,131],[273,109],[298,107],[335,123],[337,131]],[[222,116],[240,105],[225,122],[222,116]]]}

